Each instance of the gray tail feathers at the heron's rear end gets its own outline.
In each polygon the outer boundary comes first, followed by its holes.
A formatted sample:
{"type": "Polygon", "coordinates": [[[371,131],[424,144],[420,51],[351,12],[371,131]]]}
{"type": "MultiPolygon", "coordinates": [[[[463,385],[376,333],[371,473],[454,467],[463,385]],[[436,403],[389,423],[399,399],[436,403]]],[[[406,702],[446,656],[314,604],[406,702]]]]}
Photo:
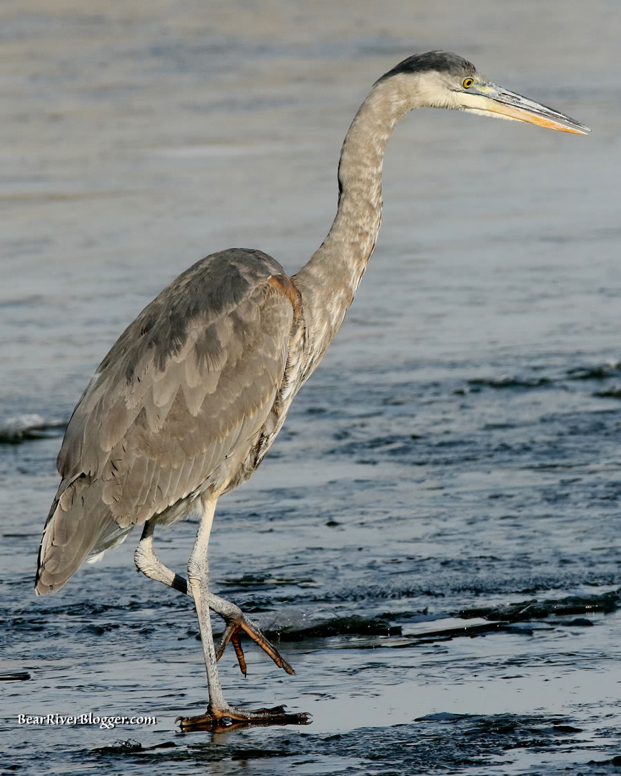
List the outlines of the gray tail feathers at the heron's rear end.
{"type": "Polygon", "coordinates": [[[43,528],[36,570],[37,595],[60,590],[102,544],[102,537],[121,533],[109,506],[102,501],[99,486],[90,476],[79,477],[64,489],[61,485],[43,528]]]}

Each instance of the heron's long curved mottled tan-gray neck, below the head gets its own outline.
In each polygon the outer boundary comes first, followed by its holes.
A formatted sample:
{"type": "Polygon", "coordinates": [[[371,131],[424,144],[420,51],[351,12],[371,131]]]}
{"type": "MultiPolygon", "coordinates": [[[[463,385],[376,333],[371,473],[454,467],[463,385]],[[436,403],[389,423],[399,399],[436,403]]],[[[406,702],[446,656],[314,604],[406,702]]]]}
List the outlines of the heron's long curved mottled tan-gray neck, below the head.
{"type": "Polygon", "coordinates": [[[293,276],[307,331],[303,379],[317,366],[343,322],[380,229],[383,154],[411,102],[400,79],[378,81],[349,127],[338,165],[338,210],[328,236],[293,276]]]}

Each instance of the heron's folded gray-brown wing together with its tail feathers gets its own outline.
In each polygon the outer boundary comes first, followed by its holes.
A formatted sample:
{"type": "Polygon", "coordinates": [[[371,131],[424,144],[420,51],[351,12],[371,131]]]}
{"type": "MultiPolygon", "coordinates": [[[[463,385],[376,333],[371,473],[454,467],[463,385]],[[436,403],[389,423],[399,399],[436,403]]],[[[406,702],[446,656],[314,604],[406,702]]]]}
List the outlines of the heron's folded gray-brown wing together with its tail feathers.
{"type": "Polygon", "coordinates": [[[260,251],[222,251],[127,327],[68,424],[37,591],[61,587],[98,544],[133,525],[206,487],[226,490],[283,383],[287,284],[260,251]]]}

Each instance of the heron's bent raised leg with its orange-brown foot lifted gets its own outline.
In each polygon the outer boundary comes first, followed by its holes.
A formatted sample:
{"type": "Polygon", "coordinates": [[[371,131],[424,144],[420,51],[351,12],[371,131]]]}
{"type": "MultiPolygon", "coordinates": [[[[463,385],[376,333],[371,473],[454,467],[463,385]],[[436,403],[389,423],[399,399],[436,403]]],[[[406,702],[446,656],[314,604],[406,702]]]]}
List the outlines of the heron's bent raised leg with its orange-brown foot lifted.
{"type": "MultiPolygon", "coordinates": [[[[145,577],[149,577],[151,580],[161,582],[168,587],[172,587],[173,590],[184,593],[192,598],[192,593],[188,589],[187,580],[179,576],[168,566],[158,558],[153,549],[153,532],[155,528],[155,521],[153,519],[147,520],[144,524],[142,536],[136,552],[134,553],[134,563],[139,571],[144,573],[145,577]]],[[[220,642],[216,646],[216,659],[220,660],[220,657],[224,653],[224,648],[229,642],[235,650],[241,673],[246,675],[246,660],[244,651],[241,649],[241,632],[245,632],[261,649],[268,654],[274,663],[279,668],[283,668],[287,674],[295,674],[295,671],[289,663],[283,658],[283,656],[276,650],[276,647],[269,642],[268,639],[262,634],[261,630],[255,622],[245,616],[241,609],[226,601],[224,598],[220,598],[219,595],[213,593],[208,594],[209,607],[216,612],[217,615],[224,620],[225,628],[220,642]]]]}

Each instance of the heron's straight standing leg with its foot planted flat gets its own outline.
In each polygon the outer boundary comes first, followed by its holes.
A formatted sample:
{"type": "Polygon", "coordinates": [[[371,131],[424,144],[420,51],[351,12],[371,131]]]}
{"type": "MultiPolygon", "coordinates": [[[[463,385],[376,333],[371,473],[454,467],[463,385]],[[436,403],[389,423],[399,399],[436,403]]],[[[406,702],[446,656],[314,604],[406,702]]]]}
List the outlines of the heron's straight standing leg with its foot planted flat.
{"type": "Polygon", "coordinates": [[[209,602],[209,564],[207,562],[207,547],[213,513],[216,509],[217,497],[205,494],[201,497],[203,514],[200,519],[196,541],[188,561],[188,586],[196,605],[196,615],[199,620],[200,637],[203,642],[203,656],[207,672],[207,688],[209,690],[209,705],[205,714],[196,717],[179,717],[177,722],[182,730],[221,728],[222,720],[231,719],[248,724],[290,725],[305,724],[307,714],[286,714],[283,706],[275,708],[259,708],[254,712],[243,708],[234,708],[224,700],[224,693],[218,676],[216,650],[213,646],[211,632],[210,602],[209,602]]]}

